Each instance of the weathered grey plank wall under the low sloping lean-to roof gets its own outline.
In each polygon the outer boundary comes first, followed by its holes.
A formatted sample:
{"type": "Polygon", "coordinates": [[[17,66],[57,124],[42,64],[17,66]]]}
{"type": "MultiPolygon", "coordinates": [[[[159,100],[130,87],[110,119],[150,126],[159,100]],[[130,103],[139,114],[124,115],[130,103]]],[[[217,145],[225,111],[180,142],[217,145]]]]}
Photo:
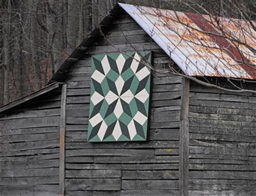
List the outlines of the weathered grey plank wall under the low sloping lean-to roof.
{"type": "Polygon", "coordinates": [[[57,195],[59,89],[0,116],[0,195],[57,195]]]}

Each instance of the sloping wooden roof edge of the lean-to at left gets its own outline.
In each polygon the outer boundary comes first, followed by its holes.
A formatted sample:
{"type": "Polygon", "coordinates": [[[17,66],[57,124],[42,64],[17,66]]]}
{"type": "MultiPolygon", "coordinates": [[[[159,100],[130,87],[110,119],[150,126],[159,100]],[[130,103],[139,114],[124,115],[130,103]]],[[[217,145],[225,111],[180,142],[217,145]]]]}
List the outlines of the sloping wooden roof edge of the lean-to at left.
{"type": "Polygon", "coordinates": [[[52,83],[51,85],[48,85],[44,88],[42,88],[41,90],[38,90],[37,92],[34,92],[34,93],[31,93],[29,95],[26,95],[24,97],[22,97],[21,99],[18,99],[18,100],[15,100],[15,101],[12,101],[4,106],[2,106],[0,108],[0,113],[2,113],[3,111],[5,110],[8,110],[8,109],[11,109],[15,106],[18,106],[19,104],[22,104],[22,103],[25,103],[26,101],[29,101],[31,99],[34,99],[40,95],[43,95],[45,93],[48,93],[50,92],[51,90],[53,89],[56,89],[58,88],[60,85],[62,85],[63,83],[60,83],[60,82],[55,82],[55,83],[52,83]]]}

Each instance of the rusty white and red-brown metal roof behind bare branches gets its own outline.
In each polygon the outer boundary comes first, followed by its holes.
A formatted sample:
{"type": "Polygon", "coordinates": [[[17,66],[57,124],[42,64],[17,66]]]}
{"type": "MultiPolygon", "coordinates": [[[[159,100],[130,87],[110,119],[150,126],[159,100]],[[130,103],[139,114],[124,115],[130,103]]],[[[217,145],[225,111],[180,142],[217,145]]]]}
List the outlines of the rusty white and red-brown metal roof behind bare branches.
{"type": "Polygon", "coordinates": [[[256,79],[255,21],[119,5],[185,74],[256,79]]]}

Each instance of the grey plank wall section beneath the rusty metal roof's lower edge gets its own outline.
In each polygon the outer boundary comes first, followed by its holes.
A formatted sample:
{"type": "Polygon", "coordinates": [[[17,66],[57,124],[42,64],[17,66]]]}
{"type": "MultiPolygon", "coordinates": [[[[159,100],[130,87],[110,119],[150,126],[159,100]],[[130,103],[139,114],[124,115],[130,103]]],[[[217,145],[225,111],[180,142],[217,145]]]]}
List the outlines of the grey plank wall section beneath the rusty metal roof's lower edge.
{"type": "MultiPolygon", "coordinates": [[[[255,89],[254,83],[247,87],[255,89]]],[[[255,108],[255,94],[191,82],[190,195],[255,195],[255,108]]]]}

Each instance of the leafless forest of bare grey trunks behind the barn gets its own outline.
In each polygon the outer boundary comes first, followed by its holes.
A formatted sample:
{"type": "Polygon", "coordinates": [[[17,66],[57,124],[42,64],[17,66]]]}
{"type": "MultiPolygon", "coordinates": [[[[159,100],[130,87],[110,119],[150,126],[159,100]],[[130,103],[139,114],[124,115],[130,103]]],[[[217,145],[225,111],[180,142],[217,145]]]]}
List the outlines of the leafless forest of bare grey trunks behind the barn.
{"type": "MultiPolygon", "coordinates": [[[[2,0],[0,105],[44,87],[117,0],[2,0]]],[[[129,0],[131,4],[255,20],[254,0],[129,0]]],[[[251,24],[255,30],[254,24],[251,24]]],[[[255,36],[255,34],[254,34],[255,36]]],[[[254,50],[255,54],[255,49],[254,50]]]]}

